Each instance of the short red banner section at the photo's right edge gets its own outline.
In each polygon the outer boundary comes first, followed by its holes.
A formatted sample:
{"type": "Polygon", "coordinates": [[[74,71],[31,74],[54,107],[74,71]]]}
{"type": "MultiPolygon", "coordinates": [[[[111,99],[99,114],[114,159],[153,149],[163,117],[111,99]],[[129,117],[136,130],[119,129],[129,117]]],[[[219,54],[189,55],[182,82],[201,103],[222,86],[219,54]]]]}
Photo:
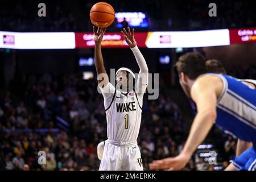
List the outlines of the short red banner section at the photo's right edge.
{"type": "Polygon", "coordinates": [[[230,44],[256,42],[256,28],[240,28],[229,30],[230,44]]]}

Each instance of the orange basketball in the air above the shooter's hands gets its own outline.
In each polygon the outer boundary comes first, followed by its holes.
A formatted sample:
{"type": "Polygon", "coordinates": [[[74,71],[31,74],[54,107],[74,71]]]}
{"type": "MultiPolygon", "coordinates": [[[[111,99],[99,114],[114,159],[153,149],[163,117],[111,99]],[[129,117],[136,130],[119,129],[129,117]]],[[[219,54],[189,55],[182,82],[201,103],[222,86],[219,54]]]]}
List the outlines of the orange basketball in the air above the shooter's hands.
{"type": "Polygon", "coordinates": [[[108,27],[114,19],[115,10],[109,3],[98,2],[90,9],[90,21],[97,27],[108,27]]]}

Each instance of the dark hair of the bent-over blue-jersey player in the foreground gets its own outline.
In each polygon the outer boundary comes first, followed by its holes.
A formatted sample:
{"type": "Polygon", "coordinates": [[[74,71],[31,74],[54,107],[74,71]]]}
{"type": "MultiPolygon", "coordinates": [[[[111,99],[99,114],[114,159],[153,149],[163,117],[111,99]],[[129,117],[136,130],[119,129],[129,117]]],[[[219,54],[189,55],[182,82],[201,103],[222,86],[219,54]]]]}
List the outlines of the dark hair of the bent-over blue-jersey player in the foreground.
{"type": "Polygon", "coordinates": [[[179,74],[183,72],[192,80],[195,80],[199,75],[207,73],[204,56],[195,52],[185,53],[185,55],[180,56],[175,67],[179,74]]]}

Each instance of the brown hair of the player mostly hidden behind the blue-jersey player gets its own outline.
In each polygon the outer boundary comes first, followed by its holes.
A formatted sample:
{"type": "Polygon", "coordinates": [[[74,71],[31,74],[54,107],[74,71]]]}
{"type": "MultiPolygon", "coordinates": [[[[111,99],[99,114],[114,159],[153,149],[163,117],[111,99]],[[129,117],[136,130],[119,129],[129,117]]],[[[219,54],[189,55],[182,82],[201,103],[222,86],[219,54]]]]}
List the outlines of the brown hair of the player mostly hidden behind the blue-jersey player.
{"type": "Polygon", "coordinates": [[[216,59],[209,59],[205,63],[206,69],[208,73],[222,73],[226,75],[226,69],[221,61],[216,59]]]}

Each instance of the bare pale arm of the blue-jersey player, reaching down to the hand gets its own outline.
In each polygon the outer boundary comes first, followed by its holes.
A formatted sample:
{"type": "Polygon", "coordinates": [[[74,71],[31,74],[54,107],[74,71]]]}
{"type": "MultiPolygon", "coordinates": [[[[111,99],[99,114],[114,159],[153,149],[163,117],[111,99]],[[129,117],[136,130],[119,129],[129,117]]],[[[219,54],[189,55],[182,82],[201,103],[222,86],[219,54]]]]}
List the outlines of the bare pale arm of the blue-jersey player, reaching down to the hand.
{"type": "Polygon", "coordinates": [[[196,102],[197,114],[183,150],[175,158],[156,160],[150,164],[151,169],[179,170],[185,167],[197,146],[207,137],[217,117],[217,96],[214,86],[216,84],[206,77],[201,77],[195,82],[191,89],[191,96],[196,102]]]}

